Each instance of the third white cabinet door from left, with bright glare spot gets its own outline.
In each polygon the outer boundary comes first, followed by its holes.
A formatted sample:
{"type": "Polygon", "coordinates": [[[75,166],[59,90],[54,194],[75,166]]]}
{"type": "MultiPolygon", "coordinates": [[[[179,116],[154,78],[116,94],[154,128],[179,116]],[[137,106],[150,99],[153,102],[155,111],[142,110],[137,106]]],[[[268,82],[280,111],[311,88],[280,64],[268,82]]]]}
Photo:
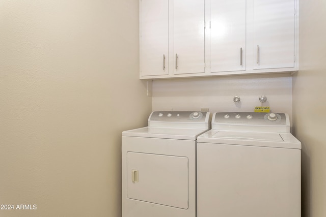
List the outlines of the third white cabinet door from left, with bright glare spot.
{"type": "Polygon", "coordinates": [[[246,0],[211,1],[211,72],[246,70],[246,0]]]}

